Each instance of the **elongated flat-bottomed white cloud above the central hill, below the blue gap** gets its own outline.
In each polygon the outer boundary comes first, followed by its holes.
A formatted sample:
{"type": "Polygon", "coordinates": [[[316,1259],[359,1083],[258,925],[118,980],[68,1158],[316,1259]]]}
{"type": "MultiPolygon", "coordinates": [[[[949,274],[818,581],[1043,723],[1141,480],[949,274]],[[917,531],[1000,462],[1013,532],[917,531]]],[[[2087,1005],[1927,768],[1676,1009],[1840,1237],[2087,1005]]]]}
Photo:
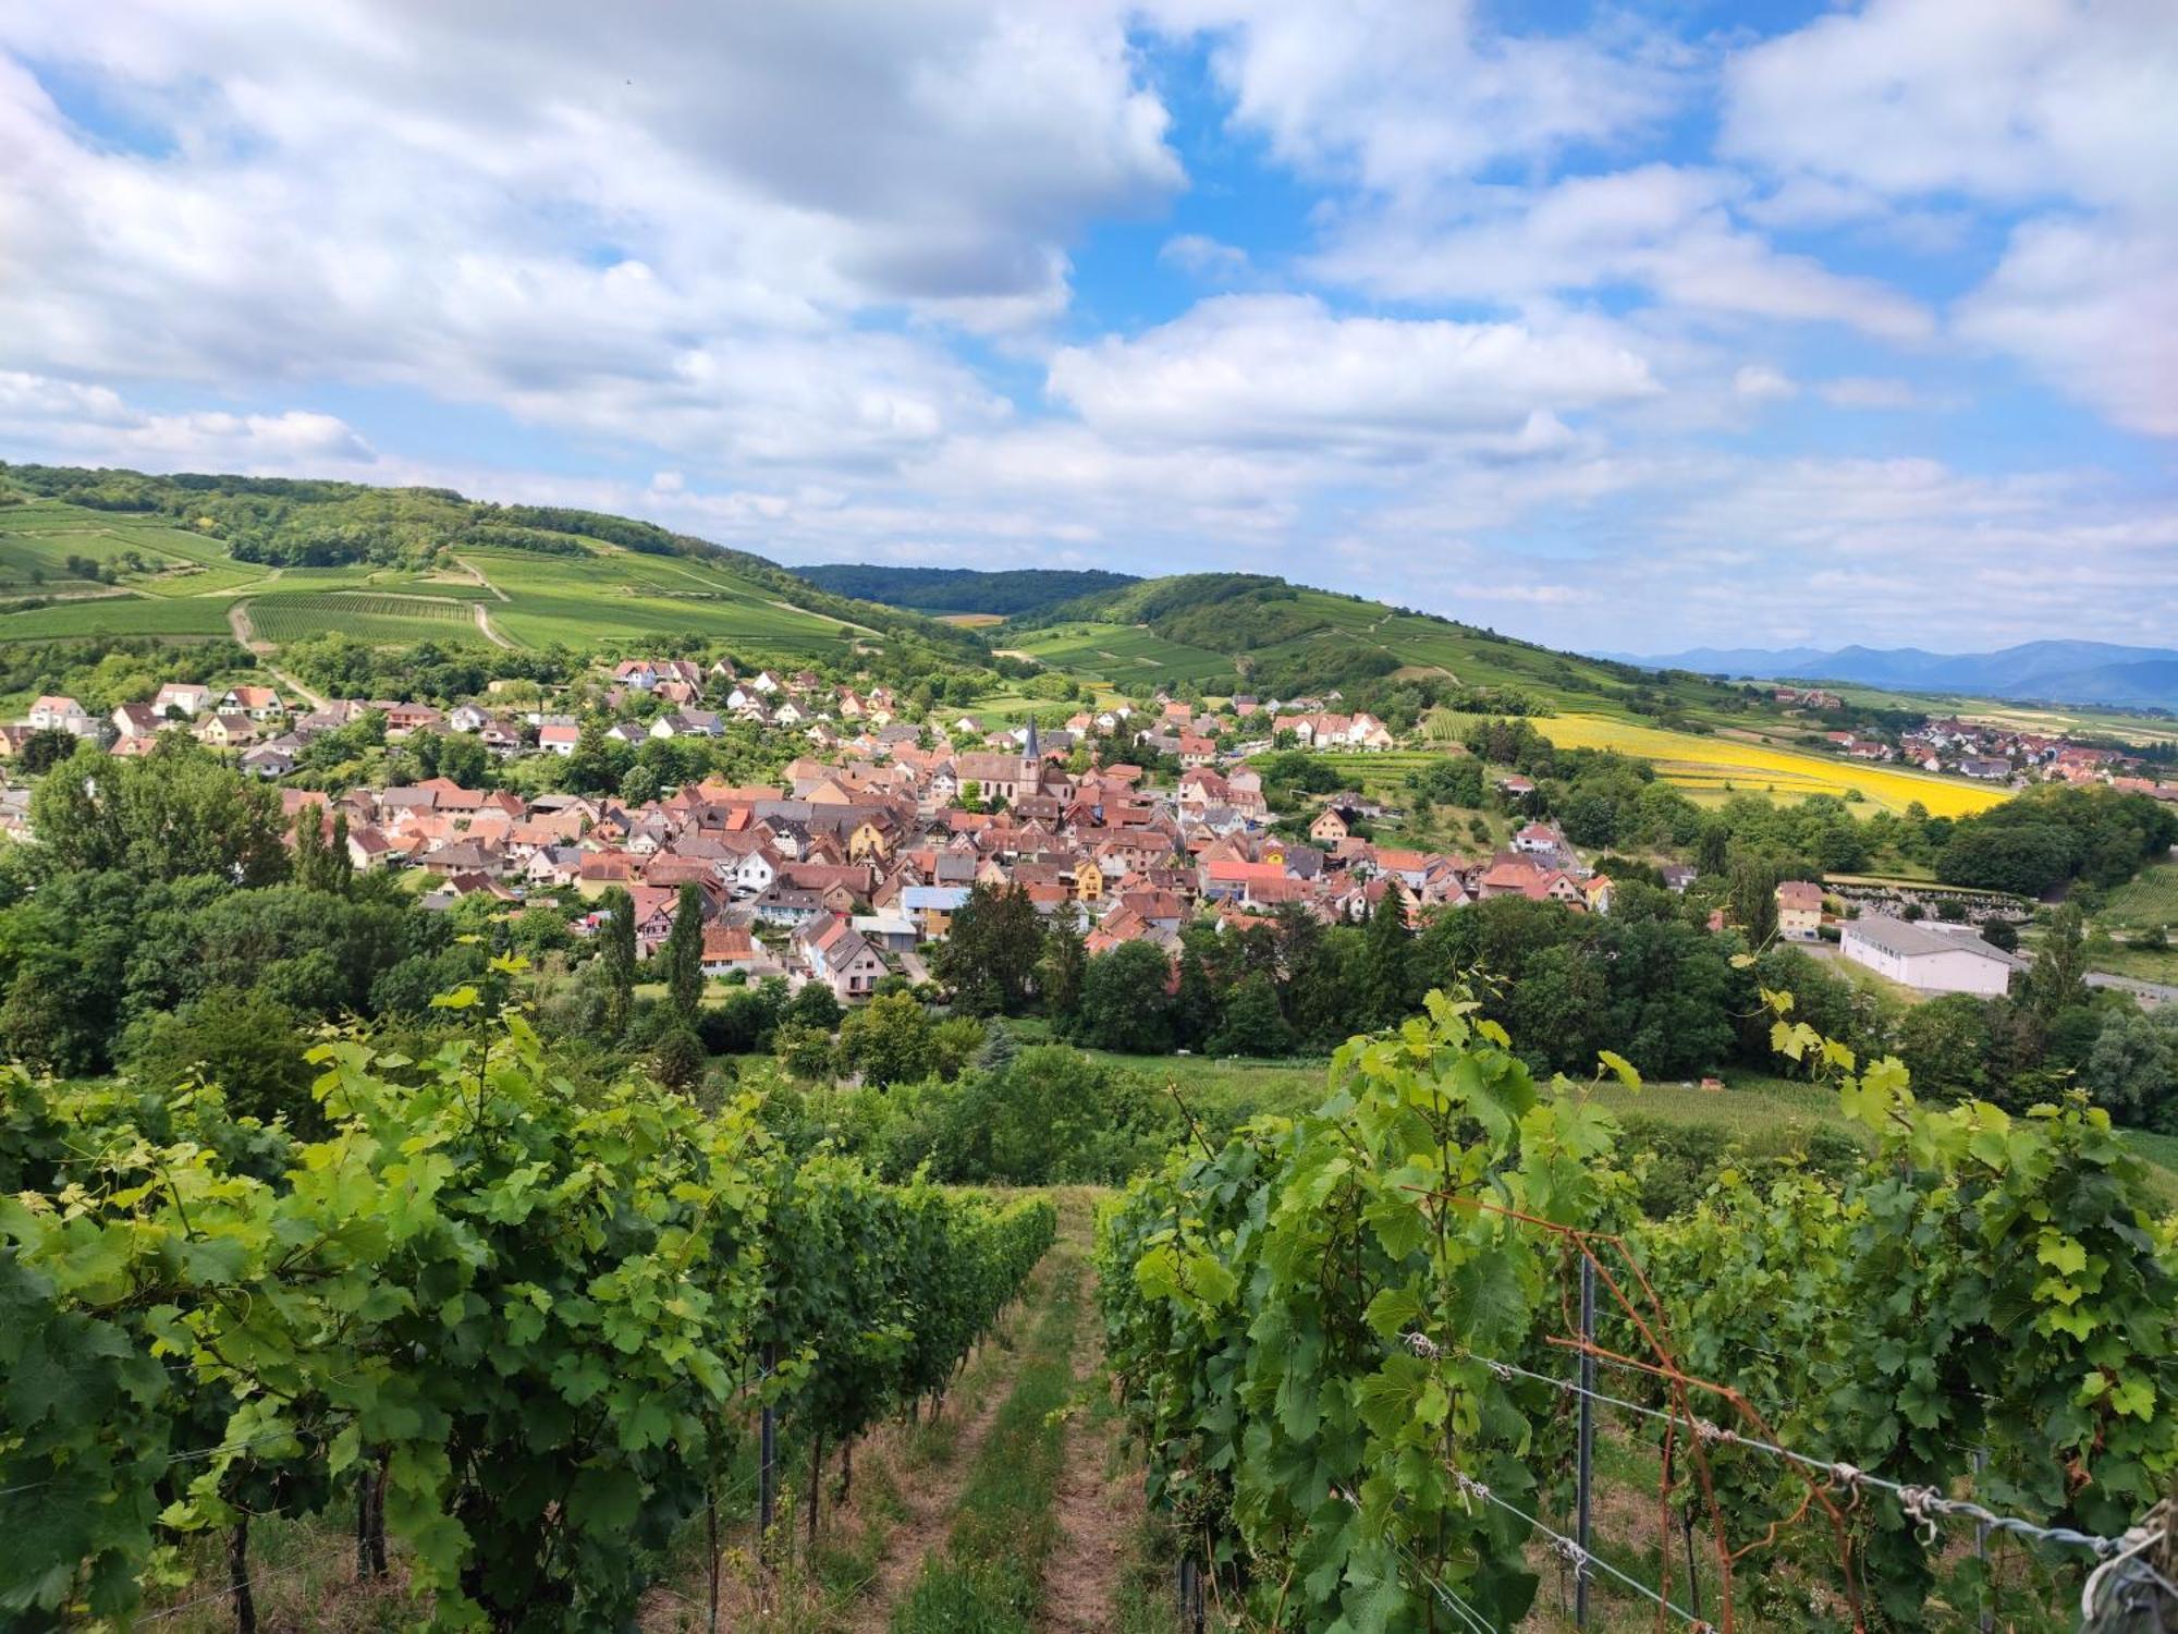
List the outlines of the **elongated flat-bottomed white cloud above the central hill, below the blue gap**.
{"type": "Polygon", "coordinates": [[[1657,383],[1638,353],[1570,327],[1342,318],[1313,296],[1218,296],[1130,340],[1061,351],[1050,390],[1122,442],[1424,458],[1477,436],[1503,453],[1559,447],[1559,410],[1657,383]]]}

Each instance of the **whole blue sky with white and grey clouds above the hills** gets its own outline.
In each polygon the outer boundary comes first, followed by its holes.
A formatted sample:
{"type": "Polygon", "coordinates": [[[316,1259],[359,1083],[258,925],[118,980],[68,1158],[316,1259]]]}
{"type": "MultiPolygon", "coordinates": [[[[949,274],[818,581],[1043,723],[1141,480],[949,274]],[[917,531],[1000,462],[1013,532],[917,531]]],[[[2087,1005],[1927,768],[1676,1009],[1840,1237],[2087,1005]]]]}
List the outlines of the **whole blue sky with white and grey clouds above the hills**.
{"type": "Polygon", "coordinates": [[[0,458],[2178,645],[2178,4],[0,0],[0,458]]]}

